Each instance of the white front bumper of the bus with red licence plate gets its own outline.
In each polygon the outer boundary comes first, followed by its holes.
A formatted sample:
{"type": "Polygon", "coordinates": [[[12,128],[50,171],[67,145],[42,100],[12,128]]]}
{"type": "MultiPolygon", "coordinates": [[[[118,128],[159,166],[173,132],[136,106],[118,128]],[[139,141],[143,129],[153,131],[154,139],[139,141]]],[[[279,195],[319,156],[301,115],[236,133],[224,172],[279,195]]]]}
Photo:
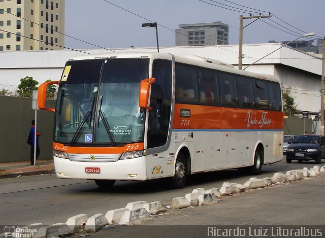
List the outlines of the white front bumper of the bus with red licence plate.
{"type": "Polygon", "coordinates": [[[147,180],[145,156],[116,162],[77,162],[54,156],[61,179],[147,180]]]}

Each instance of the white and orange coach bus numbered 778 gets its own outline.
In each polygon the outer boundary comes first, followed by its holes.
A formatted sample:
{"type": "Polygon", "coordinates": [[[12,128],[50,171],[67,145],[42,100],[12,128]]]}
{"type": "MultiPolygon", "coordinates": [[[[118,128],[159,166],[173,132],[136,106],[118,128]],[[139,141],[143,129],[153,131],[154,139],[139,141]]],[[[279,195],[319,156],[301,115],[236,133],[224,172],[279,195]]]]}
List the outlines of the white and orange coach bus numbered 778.
{"type": "Polygon", "coordinates": [[[60,81],[39,87],[54,112],[59,178],[116,180],[242,168],[252,174],[282,159],[279,79],[198,56],[108,53],[68,60],[60,81]],[[55,108],[47,86],[58,84],[55,108]]]}

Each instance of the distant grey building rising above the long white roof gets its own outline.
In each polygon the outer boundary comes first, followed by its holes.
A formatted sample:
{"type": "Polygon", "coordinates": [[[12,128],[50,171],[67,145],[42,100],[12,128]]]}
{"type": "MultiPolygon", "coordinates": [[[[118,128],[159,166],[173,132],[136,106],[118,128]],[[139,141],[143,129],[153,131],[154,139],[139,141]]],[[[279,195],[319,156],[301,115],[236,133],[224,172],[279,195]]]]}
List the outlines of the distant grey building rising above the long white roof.
{"type": "Polygon", "coordinates": [[[221,21],[182,24],[176,31],[176,46],[228,45],[229,25],[221,21]]]}

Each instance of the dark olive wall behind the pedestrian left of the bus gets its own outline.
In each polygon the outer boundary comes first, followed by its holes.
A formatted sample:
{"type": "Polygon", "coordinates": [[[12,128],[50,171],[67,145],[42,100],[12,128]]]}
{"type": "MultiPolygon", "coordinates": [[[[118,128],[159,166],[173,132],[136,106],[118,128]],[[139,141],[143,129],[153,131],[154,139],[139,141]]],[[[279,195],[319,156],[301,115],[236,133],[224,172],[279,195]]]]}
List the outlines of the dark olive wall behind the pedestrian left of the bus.
{"type": "MultiPolygon", "coordinates": [[[[54,107],[55,101],[47,102],[54,107]]],[[[0,162],[29,160],[30,146],[27,133],[31,120],[35,119],[35,110],[31,109],[31,98],[0,96],[0,162]]],[[[52,159],[54,113],[37,111],[37,130],[41,132],[38,159],[52,159]]]]}

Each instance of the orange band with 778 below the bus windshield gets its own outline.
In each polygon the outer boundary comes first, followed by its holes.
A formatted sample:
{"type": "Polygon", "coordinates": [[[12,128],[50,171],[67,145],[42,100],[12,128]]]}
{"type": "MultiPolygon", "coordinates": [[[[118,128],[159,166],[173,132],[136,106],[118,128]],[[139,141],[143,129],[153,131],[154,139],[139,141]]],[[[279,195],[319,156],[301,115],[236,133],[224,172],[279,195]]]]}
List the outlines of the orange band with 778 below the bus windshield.
{"type": "Polygon", "coordinates": [[[128,144],[124,147],[72,147],[53,142],[53,150],[74,154],[122,154],[126,151],[143,150],[143,143],[128,144]]]}

